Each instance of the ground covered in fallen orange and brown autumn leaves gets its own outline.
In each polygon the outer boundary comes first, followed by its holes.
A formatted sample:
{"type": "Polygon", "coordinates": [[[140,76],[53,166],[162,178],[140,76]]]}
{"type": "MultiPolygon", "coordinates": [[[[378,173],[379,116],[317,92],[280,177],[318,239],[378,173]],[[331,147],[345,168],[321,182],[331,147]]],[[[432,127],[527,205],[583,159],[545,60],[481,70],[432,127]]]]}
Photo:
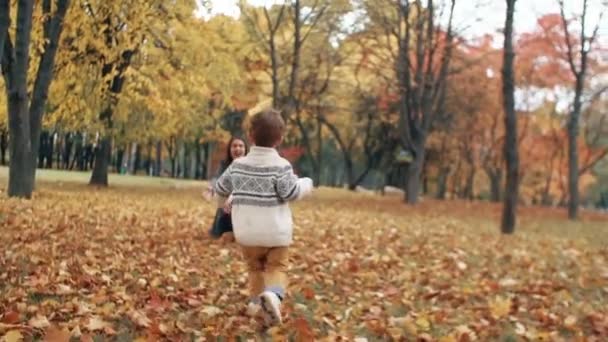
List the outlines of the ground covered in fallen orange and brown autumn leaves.
{"type": "Polygon", "coordinates": [[[498,206],[321,189],[294,205],[286,323],[261,331],[237,246],[206,236],[202,184],[52,182],[19,201],[2,180],[0,340],[608,338],[599,214],[524,209],[505,238],[498,206]]]}

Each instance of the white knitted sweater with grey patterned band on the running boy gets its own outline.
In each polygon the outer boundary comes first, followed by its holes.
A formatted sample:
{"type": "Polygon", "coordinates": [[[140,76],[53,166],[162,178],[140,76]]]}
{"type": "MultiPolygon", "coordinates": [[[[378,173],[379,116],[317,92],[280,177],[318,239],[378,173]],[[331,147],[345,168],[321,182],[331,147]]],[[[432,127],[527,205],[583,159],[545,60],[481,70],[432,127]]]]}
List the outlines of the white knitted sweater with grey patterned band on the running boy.
{"type": "Polygon", "coordinates": [[[244,246],[279,247],[293,241],[287,202],[312,192],[310,178],[298,178],[274,148],[254,146],[215,183],[220,196],[232,194],[232,226],[244,246]]]}

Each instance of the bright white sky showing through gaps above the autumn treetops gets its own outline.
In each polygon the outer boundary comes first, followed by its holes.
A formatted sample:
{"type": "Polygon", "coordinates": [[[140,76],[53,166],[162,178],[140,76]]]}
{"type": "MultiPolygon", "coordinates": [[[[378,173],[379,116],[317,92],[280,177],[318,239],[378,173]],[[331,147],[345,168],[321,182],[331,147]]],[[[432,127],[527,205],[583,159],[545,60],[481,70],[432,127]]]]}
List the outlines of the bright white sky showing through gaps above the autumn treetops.
{"type": "MultiPolygon", "coordinates": [[[[573,6],[580,6],[582,0],[564,0],[566,13],[571,15],[573,6]]],[[[280,0],[249,0],[253,5],[266,5],[280,3],[280,0]]],[[[602,0],[589,0],[589,26],[595,26],[598,22],[599,13],[602,9],[602,0]]],[[[239,9],[237,0],[212,0],[212,13],[223,13],[238,16],[239,9]]],[[[456,24],[467,36],[479,36],[485,33],[496,33],[504,25],[505,18],[504,0],[457,0],[455,19],[456,24]]],[[[546,13],[559,12],[557,0],[518,0],[516,3],[515,28],[517,32],[530,31],[536,25],[536,19],[546,13]]],[[[607,8],[604,6],[604,10],[607,8]]],[[[603,39],[608,38],[608,11],[604,15],[601,30],[599,32],[603,39]]],[[[580,12],[578,12],[580,13],[580,12]]]]}

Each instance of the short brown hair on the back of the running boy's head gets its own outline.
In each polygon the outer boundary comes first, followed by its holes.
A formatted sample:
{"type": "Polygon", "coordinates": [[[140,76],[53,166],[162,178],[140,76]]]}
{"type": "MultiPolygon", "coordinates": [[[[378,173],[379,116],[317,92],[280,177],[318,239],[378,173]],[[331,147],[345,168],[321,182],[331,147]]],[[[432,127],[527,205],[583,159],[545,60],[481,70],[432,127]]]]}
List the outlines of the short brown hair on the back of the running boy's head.
{"type": "Polygon", "coordinates": [[[276,109],[266,109],[249,121],[249,134],[253,143],[261,147],[275,147],[283,138],[285,121],[276,109]]]}

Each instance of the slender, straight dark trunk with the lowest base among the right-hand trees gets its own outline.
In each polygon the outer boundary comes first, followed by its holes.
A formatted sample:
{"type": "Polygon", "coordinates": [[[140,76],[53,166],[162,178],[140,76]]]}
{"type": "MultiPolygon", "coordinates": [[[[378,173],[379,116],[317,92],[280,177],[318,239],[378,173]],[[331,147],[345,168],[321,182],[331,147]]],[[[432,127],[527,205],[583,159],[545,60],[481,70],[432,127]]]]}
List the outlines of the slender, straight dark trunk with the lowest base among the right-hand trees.
{"type": "Polygon", "coordinates": [[[512,234],[515,231],[517,199],[519,193],[519,155],[517,151],[517,116],[515,113],[515,78],[513,65],[515,51],[513,49],[513,14],[515,0],[507,0],[507,15],[505,21],[504,59],[502,68],[503,105],[505,110],[505,162],[507,181],[502,212],[501,231],[512,234]]]}

